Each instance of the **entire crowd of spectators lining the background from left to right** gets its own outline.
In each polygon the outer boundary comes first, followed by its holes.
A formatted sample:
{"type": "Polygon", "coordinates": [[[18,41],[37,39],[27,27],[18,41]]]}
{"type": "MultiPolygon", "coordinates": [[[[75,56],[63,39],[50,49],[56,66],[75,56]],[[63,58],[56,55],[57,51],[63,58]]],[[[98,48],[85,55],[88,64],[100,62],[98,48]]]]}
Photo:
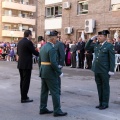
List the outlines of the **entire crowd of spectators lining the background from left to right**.
{"type": "MultiPolygon", "coordinates": [[[[120,36],[117,40],[115,38],[107,38],[107,41],[114,45],[115,54],[120,54],[120,36]]],[[[85,44],[86,40],[81,37],[78,40],[65,39],[61,40],[64,44],[65,51],[65,66],[70,66],[71,68],[81,68],[81,69],[91,69],[94,51],[86,50],[85,44]]],[[[97,39],[93,41],[93,44],[97,42],[97,39]]],[[[43,39],[38,42],[36,46],[36,51],[46,44],[43,39]]],[[[5,61],[17,61],[17,43],[0,42],[0,60],[5,61]]],[[[38,57],[33,55],[33,63],[37,63],[38,57]]]]}

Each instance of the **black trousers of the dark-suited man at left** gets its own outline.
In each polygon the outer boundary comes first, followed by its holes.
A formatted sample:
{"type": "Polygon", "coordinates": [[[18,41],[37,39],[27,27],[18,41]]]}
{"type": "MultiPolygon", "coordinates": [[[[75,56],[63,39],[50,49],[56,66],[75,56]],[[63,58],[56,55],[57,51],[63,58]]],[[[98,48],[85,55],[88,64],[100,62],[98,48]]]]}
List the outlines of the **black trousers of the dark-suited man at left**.
{"type": "Polygon", "coordinates": [[[21,100],[28,98],[27,94],[30,86],[31,69],[19,69],[21,100]]]}

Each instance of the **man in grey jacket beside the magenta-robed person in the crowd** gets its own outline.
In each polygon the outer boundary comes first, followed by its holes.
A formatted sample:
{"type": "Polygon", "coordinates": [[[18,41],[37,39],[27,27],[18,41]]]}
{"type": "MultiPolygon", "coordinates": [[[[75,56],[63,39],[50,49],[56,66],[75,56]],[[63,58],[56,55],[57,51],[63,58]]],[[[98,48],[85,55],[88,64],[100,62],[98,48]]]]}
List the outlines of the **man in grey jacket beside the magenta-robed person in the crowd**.
{"type": "Polygon", "coordinates": [[[71,65],[72,65],[71,68],[76,68],[76,51],[77,51],[77,45],[76,45],[76,41],[74,40],[70,48],[71,65]]]}

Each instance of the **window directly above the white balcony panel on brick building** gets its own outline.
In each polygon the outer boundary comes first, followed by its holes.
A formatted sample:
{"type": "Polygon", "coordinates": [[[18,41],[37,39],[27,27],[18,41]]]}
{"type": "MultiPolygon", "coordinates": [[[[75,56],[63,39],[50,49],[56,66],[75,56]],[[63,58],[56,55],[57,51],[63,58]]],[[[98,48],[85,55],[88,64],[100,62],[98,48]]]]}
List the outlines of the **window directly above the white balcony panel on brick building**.
{"type": "Polygon", "coordinates": [[[62,15],[62,5],[46,8],[46,17],[60,17],[61,15],[62,15]]]}

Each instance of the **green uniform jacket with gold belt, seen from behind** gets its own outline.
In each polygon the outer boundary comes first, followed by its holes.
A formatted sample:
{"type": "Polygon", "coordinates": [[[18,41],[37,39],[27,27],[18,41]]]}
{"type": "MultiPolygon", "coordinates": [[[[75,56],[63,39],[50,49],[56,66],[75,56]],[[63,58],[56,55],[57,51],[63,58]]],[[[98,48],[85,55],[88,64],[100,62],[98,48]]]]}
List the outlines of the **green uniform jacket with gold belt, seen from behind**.
{"type": "Polygon", "coordinates": [[[40,49],[39,67],[41,78],[56,79],[62,73],[58,68],[56,50],[50,42],[40,49]],[[41,62],[50,62],[51,65],[41,65],[41,62]]]}

